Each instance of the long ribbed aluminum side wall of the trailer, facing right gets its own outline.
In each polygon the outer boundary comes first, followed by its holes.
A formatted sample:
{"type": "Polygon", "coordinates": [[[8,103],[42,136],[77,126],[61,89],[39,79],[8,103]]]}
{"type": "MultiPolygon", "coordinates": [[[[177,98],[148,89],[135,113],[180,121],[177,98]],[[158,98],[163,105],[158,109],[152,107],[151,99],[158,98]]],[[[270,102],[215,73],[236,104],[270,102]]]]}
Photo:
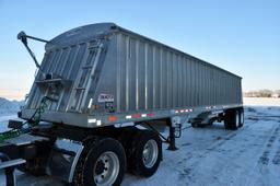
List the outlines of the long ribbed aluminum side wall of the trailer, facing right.
{"type": "Polygon", "coordinates": [[[117,111],[240,104],[241,79],[132,34],[117,34],[117,111]]]}

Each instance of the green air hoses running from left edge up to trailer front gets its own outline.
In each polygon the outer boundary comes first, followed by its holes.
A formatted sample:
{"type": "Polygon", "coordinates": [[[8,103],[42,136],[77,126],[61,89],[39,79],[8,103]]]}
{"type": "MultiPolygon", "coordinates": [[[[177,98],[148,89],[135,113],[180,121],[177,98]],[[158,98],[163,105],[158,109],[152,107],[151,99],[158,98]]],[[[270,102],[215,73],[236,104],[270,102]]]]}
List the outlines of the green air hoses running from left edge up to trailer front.
{"type": "Polygon", "coordinates": [[[0,132],[0,143],[4,142],[8,139],[19,137],[23,133],[28,133],[33,127],[37,126],[40,121],[42,114],[47,108],[47,102],[55,102],[55,100],[44,96],[40,101],[39,107],[35,111],[32,117],[25,121],[21,128],[11,129],[4,132],[0,132]]]}

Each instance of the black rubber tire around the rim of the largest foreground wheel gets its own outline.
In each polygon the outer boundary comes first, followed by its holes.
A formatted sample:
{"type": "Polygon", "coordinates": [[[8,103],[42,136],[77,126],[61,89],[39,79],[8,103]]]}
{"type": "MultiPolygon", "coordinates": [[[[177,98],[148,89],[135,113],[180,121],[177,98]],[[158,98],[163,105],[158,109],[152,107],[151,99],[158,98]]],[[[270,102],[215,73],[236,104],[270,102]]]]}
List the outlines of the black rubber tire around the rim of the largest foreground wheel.
{"type": "Polygon", "coordinates": [[[112,151],[116,153],[119,160],[119,174],[113,185],[120,185],[125,175],[126,170],[126,153],[121,144],[114,139],[105,138],[97,142],[88,153],[84,168],[83,168],[83,178],[82,185],[84,186],[95,186],[95,182],[93,178],[93,167],[95,162],[98,160],[100,155],[104,152],[112,151]]]}

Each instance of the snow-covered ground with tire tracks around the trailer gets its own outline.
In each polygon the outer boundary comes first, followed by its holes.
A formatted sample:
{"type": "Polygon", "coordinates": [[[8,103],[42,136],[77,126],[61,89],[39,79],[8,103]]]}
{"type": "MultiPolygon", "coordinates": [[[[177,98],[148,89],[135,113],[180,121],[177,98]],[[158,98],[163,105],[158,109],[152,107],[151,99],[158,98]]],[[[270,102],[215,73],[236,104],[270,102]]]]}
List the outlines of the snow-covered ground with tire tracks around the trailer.
{"type": "MultiPolygon", "coordinates": [[[[121,185],[279,186],[280,98],[244,98],[244,104],[243,128],[228,131],[222,124],[189,127],[177,139],[179,150],[172,152],[163,147],[163,161],[155,175],[141,178],[127,174],[121,185]]],[[[0,179],[0,185],[4,185],[3,175],[0,179]]],[[[34,177],[20,172],[18,181],[20,186],[63,185],[48,176],[34,177]]]]}

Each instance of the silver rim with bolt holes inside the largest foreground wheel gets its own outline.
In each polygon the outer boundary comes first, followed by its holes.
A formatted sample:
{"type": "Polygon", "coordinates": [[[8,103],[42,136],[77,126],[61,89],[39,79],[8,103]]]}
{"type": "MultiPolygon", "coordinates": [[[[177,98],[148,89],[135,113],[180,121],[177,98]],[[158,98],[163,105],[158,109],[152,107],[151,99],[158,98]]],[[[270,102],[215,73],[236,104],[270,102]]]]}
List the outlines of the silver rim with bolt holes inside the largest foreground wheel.
{"type": "Polygon", "coordinates": [[[119,173],[119,160],[115,152],[104,152],[94,164],[93,178],[96,185],[113,185],[119,173]],[[101,167],[102,166],[102,167],[101,167]]]}

